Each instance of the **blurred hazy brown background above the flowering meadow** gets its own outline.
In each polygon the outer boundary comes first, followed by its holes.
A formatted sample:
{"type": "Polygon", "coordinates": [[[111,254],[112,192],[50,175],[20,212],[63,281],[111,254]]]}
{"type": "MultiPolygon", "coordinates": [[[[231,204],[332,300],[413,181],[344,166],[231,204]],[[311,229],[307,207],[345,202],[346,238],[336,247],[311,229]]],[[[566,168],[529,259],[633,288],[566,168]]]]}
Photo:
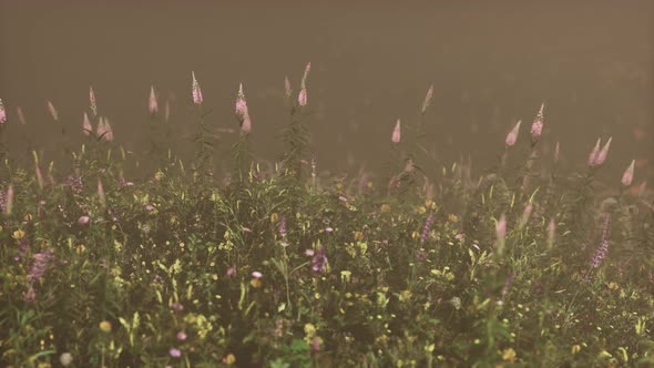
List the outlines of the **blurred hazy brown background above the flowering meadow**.
{"type": "MultiPolygon", "coordinates": [[[[525,122],[525,140],[544,101],[545,153],[560,141],[564,164],[578,168],[597,137],[613,136],[602,177],[619,185],[638,159],[636,183],[654,178],[652,1],[0,0],[0,99],[13,160],[27,157],[28,136],[47,155],[58,152],[45,99],[81,142],[89,85],[129,150],[147,149],[152,84],[161,108],[171,99],[171,122],[191,134],[192,70],[215,127],[236,127],[244,83],[255,151],[274,160],[287,122],[284,75],[297,86],[308,61],[323,170],[381,168],[395,121],[415,122],[433,83],[426,129],[443,163],[470,155],[478,170],[492,165],[514,122],[525,122]]],[[[234,139],[223,133],[218,154],[234,139]]],[[[190,137],[178,140],[190,157],[190,137]]]]}

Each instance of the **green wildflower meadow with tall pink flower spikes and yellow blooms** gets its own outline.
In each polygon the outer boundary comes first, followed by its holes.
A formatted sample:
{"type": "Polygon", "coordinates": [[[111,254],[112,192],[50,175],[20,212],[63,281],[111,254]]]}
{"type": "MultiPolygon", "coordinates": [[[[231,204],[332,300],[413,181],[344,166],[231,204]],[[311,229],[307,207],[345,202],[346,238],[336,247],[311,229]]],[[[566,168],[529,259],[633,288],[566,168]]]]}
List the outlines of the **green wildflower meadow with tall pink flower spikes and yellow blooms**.
{"type": "Polygon", "coordinates": [[[384,123],[386,168],[325,174],[310,73],[279,85],[277,157],[253,153],[247,85],[216,126],[212,81],[188,72],[186,161],[145,88],[145,180],[126,177],[127,133],[93,88],[75,130],[45,103],[60,152],[29,160],[7,152],[22,112],[0,100],[0,366],[654,366],[654,194],[611,136],[590,133],[562,167],[565,147],[540,144],[545,101],[507,122],[493,166],[439,162],[432,85],[384,123]],[[624,174],[600,181],[607,166],[624,174]]]}

